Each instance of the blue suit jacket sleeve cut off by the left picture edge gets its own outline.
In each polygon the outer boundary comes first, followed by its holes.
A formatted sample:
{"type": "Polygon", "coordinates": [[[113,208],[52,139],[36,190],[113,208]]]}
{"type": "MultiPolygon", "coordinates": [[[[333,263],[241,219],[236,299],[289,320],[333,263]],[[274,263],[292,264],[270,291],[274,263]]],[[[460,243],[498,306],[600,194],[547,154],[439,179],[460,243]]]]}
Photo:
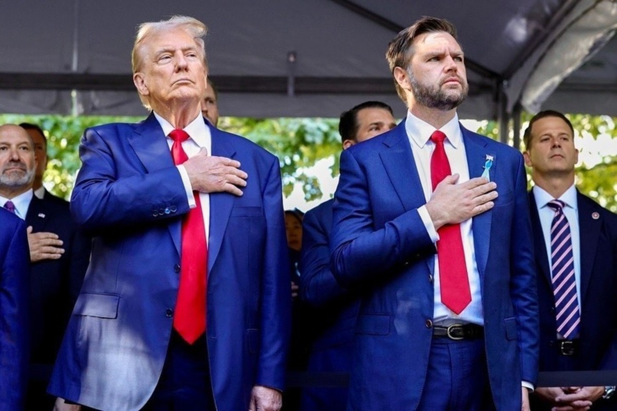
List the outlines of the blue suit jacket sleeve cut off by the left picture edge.
{"type": "Polygon", "coordinates": [[[29,272],[26,225],[0,207],[0,411],[20,410],[25,399],[29,272]]]}

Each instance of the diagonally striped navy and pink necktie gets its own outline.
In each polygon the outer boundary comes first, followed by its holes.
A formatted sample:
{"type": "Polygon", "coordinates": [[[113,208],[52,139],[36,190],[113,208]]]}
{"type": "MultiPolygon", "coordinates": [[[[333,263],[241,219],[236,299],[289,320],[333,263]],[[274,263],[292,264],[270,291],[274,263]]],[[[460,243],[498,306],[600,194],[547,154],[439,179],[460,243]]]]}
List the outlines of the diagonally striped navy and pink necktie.
{"type": "Polygon", "coordinates": [[[572,235],[568,218],[563,214],[565,202],[552,200],[547,205],[555,211],[550,225],[550,271],[557,313],[557,332],[565,339],[572,339],[578,336],[581,323],[574,277],[572,235]]]}

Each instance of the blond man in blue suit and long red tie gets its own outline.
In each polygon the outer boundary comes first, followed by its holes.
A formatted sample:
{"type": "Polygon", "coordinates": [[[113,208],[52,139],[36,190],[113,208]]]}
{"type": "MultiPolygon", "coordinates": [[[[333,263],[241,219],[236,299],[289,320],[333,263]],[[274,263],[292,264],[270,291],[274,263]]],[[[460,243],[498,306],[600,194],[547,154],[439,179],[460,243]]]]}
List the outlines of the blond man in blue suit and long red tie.
{"type": "Polygon", "coordinates": [[[191,17],[141,25],[133,81],[151,114],[84,133],[71,209],[93,251],[49,386],[58,407],[281,407],[279,162],[202,117],[204,35],[191,17]]]}

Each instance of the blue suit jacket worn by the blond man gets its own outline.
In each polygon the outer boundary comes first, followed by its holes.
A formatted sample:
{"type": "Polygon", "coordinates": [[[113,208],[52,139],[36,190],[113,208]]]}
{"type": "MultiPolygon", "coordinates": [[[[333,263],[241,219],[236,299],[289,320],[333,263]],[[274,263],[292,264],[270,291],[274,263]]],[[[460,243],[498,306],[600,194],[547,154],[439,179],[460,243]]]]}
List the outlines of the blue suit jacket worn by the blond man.
{"type": "MultiPolygon", "coordinates": [[[[235,411],[247,409],[254,384],[284,386],[291,296],[281,178],[275,156],[208,126],[212,154],[239,160],[249,175],[240,197],[210,194],[210,373],[218,410],[235,411]]],[[[71,209],[96,236],[49,391],[96,409],[138,410],[172,332],[189,205],[154,115],[86,130],[80,154],[71,209]]]]}

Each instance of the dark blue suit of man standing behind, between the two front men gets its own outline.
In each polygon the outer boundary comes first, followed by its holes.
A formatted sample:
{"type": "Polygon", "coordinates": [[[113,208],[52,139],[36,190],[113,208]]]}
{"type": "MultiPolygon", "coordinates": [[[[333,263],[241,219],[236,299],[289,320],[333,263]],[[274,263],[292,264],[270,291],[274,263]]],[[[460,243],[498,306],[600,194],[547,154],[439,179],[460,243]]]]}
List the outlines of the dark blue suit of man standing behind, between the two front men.
{"type": "MultiPolygon", "coordinates": [[[[358,296],[342,289],[330,270],[333,202],[321,203],[302,220],[300,297],[307,303],[312,330],[309,372],[349,372],[360,308],[358,296]]],[[[305,388],[300,410],[343,410],[346,402],[346,388],[305,388]]]]}

